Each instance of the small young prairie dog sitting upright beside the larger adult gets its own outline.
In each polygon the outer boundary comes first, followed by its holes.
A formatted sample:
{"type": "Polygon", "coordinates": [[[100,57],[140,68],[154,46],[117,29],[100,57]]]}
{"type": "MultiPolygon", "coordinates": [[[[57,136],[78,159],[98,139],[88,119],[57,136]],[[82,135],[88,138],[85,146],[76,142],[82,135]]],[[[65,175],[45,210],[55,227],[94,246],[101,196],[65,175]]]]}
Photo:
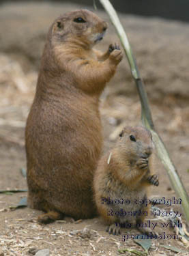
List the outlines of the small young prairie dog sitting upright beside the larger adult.
{"type": "Polygon", "coordinates": [[[149,209],[139,200],[147,199],[149,185],[159,184],[158,176],[151,175],[151,133],[142,126],[133,126],[124,128],[119,136],[113,150],[100,159],[94,175],[98,212],[108,224],[109,233],[118,235],[121,226],[132,225],[150,233],[151,229],[143,227],[149,209]]]}

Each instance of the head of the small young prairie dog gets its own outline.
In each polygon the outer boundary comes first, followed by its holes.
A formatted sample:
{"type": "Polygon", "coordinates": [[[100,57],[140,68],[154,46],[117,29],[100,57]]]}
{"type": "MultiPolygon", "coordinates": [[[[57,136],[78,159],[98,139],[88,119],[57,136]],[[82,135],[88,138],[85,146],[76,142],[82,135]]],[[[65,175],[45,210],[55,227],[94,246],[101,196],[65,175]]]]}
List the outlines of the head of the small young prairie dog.
{"type": "Polygon", "coordinates": [[[117,147],[126,153],[130,160],[149,158],[153,149],[151,132],[143,126],[128,126],[119,134],[117,147]]]}

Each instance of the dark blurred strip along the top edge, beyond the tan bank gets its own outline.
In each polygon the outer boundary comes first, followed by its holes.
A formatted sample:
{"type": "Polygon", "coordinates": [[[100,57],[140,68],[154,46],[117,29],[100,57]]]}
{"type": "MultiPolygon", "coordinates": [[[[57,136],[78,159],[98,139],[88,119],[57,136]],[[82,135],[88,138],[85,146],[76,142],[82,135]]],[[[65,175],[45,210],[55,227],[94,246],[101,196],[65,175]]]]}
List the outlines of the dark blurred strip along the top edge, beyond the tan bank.
{"type": "MultiPolygon", "coordinates": [[[[12,0],[16,2],[20,0],[12,0]]],[[[77,3],[81,5],[93,5],[93,0],[70,0],[70,1],[48,1],[35,0],[36,2],[50,3],[77,3]]],[[[8,3],[10,0],[0,0],[0,3],[8,3]]],[[[23,2],[33,2],[33,0],[23,0],[23,2]]],[[[140,16],[156,16],[173,20],[189,21],[189,1],[188,0],[112,0],[115,9],[125,14],[136,14],[140,16]]],[[[102,8],[96,0],[96,6],[102,8]]]]}

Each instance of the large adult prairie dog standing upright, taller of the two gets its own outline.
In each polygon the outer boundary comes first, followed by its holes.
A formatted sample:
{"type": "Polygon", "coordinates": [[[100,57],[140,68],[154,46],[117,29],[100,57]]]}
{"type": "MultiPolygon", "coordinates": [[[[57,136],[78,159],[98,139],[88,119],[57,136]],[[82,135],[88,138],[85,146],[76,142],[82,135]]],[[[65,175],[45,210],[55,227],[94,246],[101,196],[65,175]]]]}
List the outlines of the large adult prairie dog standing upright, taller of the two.
{"type": "Polygon", "coordinates": [[[107,24],[88,10],[57,18],[48,31],[25,133],[29,207],[48,223],[91,218],[93,173],[102,151],[99,97],[122,53],[93,49],[107,24]]]}

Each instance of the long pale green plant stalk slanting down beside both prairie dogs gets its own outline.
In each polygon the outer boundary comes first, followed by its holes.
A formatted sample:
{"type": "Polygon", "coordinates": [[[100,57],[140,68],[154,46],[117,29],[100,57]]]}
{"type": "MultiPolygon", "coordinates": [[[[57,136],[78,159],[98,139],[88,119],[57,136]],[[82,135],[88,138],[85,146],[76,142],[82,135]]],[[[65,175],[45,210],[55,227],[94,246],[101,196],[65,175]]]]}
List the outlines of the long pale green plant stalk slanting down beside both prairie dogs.
{"type": "Polygon", "coordinates": [[[126,33],[125,33],[123,26],[121,25],[121,22],[117,16],[117,13],[115,12],[113,5],[111,5],[110,1],[108,1],[108,0],[99,0],[99,1],[100,1],[100,3],[102,3],[108,16],[110,17],[111,22],[113,23],[113,25],[117,31],[117,34],[119,36],[119,39],[123,46],[123,49],[126,53],[128,62],[130,64],[131,73],[134,78],[134,81],[136,82],[136,87],[139,92],[139,97],[141,100],[142,122],[143,122],[144,126],[147,127],[151,131],[153,141],[156,146],[156,150],[158,152],[158,156],[159,156],[160,160],[162,161],[162,164],[164,165],[164,168],[166,169],[167,174],[169,175],[169,179],[171,180],[171,184],[173,186],[173,189],[175,190],[177,197],[180,197],[182,200],[181,205],[184,210],[186,222],[189,225],[189,198],[188,198],[188,195],[184,188],[184,185],[182,184],[182,182],[179,178],[179,175],[177,174],[177,170],[175,169],[175,166],[173,165],[173,162],[169,156],[169,153],[167,152],[166,147],[164,146],[164,143],[162,142],[162,139],[159,137],[158,133],[154,129],[154,123],[153,123],[153,120],[151,117],[151,111],[149,109],[149,103],[148,103],[145,87],[143,85],[143,81],[141,80],[141,76],[139,74],[139,70],[136,65],[136,61],[132,54],[132,49],[130,47],[130,43],[128,42],[126,33]]]}

